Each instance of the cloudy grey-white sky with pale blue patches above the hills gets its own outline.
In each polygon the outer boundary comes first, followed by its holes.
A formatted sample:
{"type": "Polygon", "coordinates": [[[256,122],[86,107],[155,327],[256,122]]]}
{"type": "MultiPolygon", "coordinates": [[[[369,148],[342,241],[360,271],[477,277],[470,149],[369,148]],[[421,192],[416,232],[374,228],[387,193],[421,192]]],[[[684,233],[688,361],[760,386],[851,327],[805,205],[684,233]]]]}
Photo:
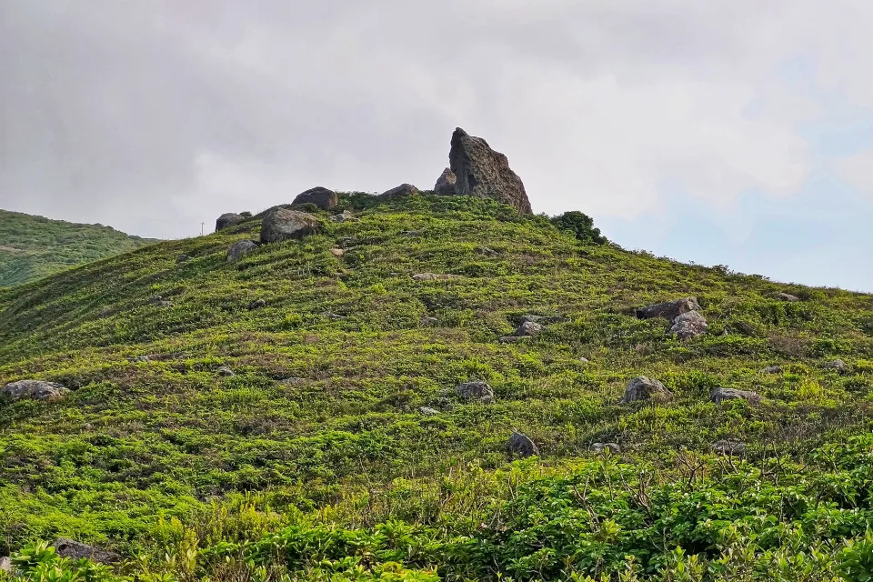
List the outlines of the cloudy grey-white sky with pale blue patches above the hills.
{"type": "Polygon", "coordinates": [[[456,126],[535,212],[873,291],[869,0],[4,0],[0,208],[156,237],[433,187],[456,126]]]}

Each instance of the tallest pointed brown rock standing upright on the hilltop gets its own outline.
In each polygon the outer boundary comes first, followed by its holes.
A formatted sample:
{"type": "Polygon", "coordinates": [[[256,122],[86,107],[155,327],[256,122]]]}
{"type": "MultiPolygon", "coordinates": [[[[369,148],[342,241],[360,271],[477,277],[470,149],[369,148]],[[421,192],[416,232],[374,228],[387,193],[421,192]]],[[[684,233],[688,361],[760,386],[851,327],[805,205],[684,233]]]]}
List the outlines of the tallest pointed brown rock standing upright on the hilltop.
{"type": "Polygon", "coordinates": [[[457,127],[452,134],[448,161],[455,174],[458,196],[494,198],[515,207],[522,214],[533,212],[525,185],[510,169],[507,156],[491,149],[481,137],[469,135],[457,127]]]}

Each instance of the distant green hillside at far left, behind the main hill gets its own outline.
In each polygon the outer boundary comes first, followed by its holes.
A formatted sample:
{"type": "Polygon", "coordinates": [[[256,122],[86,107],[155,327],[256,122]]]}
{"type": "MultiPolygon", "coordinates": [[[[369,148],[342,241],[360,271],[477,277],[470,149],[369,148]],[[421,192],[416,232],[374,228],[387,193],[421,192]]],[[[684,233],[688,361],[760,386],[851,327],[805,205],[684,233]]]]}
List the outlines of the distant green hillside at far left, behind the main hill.
{"type": "Polygon", "coordinates": [[[20,285],[152,242],[109,226],[0,210],[0,287],[20,285]]]}

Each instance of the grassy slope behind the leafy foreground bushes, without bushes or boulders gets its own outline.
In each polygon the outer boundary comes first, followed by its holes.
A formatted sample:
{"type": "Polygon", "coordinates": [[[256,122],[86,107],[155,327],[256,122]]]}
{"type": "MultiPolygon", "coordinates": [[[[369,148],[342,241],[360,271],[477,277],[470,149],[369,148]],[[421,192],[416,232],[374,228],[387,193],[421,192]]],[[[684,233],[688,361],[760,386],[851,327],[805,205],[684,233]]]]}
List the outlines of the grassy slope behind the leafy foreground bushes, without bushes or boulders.
{"type": "MultiPolygon", "coordinates": [[[[359,222],[325,220],[324,234],[236,265],[226,249],[256,236],[256,220],[0,291],[0,384],[39,377],[76,388],[51,405],[0,403],[0,554],[56,534],[125,552],[184,547],[189,526],[204,547],[303,519],[399,518],[473,535],[480,520],[504,519],[495,507],[518,503],[520,483],[592,463],[606,475],[613,461],[587,452],[592,442],[619,442],[627,467],[657,469],[669,483],[687,477],[689,458],[717,463],[708,452],[720,438],[745,440],[763,470],[779,456],[805,464],[813,448],[869,430],[873,296],[583,246],[490,201],[344,204],[367,206],[359,222]],[[345,256],[328,252],[350,236],[345,256]],[[181,253],[194,258],[176,263],[181,253]],[[412,279],[425,271],[462,278],[412,279]],[[783,290],[805,300],[772,298],[783,290]],[[175,306],[151,305],[155,295],[175,306]],[[710,322],[697,340],[680,343],[666,321],[630,315],[688,295],[710,322]],[[249,310],[256,299],[266,308],[249,310]],[[570,321],[497,343],[527,313],[570,321]],[[423,316],[440,323],[420,326],[423,316]],[[823,369],[834,357],[853,372],[823,369]],[[761,373],[772,364],[785,373],[761,373]],[[237,375],[217,376],[222,365],[237,375]],[[661,379],[676,400],[618,405],[637,375],[661,379]],[[299,380],[279,382],[289,376],[299,380]],[[469,379],[486,379],[497,403],[418,413],[469,379]],[[716,406],[714,386],[764,401],[716,406]],[[507,465],[512,428],[541,459],[507,465]]],[[[520,568],[519,577],[551,571],[520,568]]]]}

